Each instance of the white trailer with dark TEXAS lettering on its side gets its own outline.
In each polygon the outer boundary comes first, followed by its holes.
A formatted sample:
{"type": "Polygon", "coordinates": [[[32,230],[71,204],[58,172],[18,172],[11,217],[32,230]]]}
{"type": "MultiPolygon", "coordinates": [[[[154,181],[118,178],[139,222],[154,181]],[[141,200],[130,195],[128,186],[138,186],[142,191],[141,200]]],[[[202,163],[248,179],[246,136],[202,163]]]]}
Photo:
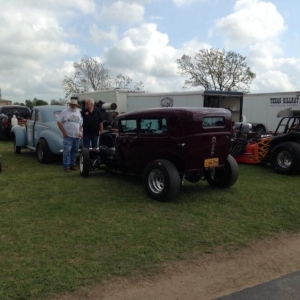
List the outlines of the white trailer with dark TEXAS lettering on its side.
{"type": "Polygon", "coordinates": [[[266,124],[266,131],[274,132],[280,121],[277,114],[284,109],[299,110],[300,92],[245,94],[243,115],[252,124],[266,124]]]}

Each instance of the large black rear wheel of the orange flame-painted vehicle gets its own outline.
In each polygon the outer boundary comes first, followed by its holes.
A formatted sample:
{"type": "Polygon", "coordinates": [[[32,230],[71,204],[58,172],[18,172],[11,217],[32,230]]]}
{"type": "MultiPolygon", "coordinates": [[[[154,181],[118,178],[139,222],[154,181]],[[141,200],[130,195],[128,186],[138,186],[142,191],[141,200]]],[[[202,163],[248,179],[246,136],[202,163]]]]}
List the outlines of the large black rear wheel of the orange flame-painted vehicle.
{"type": "Polygon", "coordinates": [[[279,174],[299,174],[300,145],[295,142],[277,145],[271,152],[271,165],[274,171],[279,174]]]}

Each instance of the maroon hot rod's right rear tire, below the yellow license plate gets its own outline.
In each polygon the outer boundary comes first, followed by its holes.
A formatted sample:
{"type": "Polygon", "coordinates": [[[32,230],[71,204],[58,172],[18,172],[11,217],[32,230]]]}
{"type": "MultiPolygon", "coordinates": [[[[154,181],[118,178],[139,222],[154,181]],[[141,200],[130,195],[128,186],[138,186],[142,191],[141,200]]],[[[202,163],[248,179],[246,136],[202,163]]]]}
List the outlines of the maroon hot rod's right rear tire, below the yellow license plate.
{"type": "Polygon", "coordinates": [[[224,167],[214,168],[209,171],[205,179],[214,187],[229,188],[236,183],[239,177],[239,166],[236,160],[229,154],[224,167]]]}

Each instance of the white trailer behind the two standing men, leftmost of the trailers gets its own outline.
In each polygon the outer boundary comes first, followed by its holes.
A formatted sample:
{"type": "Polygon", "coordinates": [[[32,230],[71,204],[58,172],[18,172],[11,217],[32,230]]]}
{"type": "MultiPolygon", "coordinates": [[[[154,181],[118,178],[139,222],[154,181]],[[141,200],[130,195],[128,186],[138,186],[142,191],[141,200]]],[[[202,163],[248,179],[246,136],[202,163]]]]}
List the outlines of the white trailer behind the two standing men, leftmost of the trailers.
{"type": "Polygon", "coordinates": [[[102,101],[105,103],[117,104],[116,111],[118,113],[126,112],[127,108],[127,94],[134,93],[134,90],[128,89],[103,89],[93,92],[73,94],[72,96],[78,97],[78,100],[94,99],[95,102],[102,101]]]}

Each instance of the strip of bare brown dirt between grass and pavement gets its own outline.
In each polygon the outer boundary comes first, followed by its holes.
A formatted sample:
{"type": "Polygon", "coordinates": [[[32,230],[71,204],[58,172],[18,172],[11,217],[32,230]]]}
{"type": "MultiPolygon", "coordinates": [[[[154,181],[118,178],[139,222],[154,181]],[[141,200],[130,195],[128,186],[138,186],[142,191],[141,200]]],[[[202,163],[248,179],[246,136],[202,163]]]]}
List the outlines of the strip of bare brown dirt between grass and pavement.
{"type": "Polygon", "coordinates": [[[300,233],[282,233],[234,252],[167,265],[147,278],[117,278],[55,300],[207,300],[300,270],[300,233]]]}

